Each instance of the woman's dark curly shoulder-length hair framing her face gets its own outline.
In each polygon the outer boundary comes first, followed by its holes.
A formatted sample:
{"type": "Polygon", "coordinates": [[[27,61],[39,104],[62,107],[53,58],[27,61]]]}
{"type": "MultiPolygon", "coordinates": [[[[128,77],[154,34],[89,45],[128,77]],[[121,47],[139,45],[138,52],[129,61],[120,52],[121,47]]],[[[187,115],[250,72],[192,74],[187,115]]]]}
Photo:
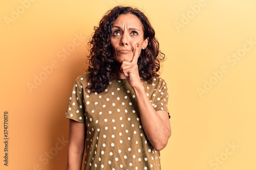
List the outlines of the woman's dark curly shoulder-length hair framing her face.
{"type": "Polygon", "coordinates": [[[113,70],[116,61],[110,44],[114,20],[120,14],[136,15],[143,27],[144,39],[148,37],[148,44],[141,50],[138,59],[140,78],[147,83],[153,82],[153,77],[159,77],[160,62],[165,55],[159,50],[159,42],[155,37],[155,31],[147,17],[137,8],[117,6],[104,14],[99,22],[99,27],[94,27],[94,34],[89,41],[90,56],[89,74],[90,85],[87,87],[91,92],[103,92],[113,78],[113,70]]]}

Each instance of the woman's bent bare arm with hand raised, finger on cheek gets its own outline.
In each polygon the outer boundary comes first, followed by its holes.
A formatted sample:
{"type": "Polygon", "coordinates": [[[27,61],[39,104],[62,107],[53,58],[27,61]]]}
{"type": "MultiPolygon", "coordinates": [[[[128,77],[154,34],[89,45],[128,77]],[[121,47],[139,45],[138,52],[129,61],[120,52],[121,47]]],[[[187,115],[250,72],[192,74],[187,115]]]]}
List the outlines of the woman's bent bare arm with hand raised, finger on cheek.
{"type": "Polygon", "coordinates": [[[139,48],[136,45],[132,62],[123,61],[121,71],[134,89],[143,130],[155,150],[162,150],[171,134],[167,111],[156,111],[146,95],[138,71],[139,48]]]}

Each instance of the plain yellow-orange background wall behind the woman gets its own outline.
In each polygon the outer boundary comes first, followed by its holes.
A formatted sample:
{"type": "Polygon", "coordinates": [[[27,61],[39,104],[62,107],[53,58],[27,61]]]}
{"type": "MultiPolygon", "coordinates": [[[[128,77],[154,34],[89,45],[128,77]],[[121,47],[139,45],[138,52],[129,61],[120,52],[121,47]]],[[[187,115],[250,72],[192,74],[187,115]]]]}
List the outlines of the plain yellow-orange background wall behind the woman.
{"type": "Polygon", "coordinates": [[[28,1],[0,3],[1,169],[66,168],[68,119],[63,116],[71,89],[87,68],[93,27],[116,5],[144,11],[167,58],[161,77],[169,89],[173,133],[161,151],[162,169],[256,169],[256,1],[22,2],[28,1]],[[79,35],[83,39],[74,51],[60,57],[79,35]],[[233,58],[238,52],[243,57],[233,58]],[[39,75],[45,80],[28,88],[39,75]],[[3,165],[5,110],[8,166],[3,165]]]}

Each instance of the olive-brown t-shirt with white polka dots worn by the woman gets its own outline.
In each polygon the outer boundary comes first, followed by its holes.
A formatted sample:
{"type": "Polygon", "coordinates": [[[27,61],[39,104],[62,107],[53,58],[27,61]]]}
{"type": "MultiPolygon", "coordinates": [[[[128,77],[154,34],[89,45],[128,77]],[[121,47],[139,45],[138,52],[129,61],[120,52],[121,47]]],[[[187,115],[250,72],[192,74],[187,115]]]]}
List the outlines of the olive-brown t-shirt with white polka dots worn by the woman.
{"type": "MultiPolygon", "coordinates": [[[[165,81],[141,83],[155,110],[169,114],[165,81]]],[[[86,74],[76,79],[65,115],[86,124],[84,169],[161,169],[160,152],[143,131],[136,95],[126,79],[114,79],[102,93],[90,93],[89,84],[86,74]]]]}

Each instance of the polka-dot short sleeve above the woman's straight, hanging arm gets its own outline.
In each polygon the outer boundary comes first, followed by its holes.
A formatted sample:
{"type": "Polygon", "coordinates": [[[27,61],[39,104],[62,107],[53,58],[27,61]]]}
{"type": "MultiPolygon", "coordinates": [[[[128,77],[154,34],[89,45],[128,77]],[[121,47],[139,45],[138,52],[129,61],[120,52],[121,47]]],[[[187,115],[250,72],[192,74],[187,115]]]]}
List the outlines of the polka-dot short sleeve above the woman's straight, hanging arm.
{"type": "Polygon", "coordinates": [[[77,79],[69,98],[68,109],[65,117],[84,124],[85,109],[83,103],[83,86],[77,79]]]}

